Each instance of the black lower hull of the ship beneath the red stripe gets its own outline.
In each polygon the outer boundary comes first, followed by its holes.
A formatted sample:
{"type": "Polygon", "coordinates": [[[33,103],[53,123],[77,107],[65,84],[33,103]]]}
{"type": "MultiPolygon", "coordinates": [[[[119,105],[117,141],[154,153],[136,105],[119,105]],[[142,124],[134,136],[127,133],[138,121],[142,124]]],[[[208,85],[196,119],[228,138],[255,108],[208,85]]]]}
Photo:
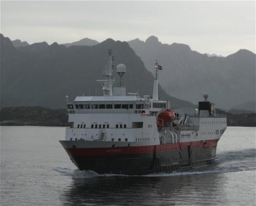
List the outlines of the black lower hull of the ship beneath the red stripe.
{"type": "MultiPolygon", "coordinates": [[[[98,152],[97,155],[94,155],[94,152],[92,152],[92,155],[88,155],[89,148],[83,149],[87,150],[87,155],[82,154],[82,149],[77,152],[76,150],[79,149],[66,148],[66,151],[72,162],[80,170],[92,170],[99,174],[143,175],[158,172],[187,171],[208,166],[215,159],[217,141],[211,140],[208,145],[202,141],[200,146],[183,144],[175,149],[168,149],[169,145],[173,144],[158,145],[155,146],[154,150],[144,149],[145,152],[141,150],[137,153],[130,152],[118,155],[104,155],[103,152],[102,155],[98,155],[101,152],[98,152]]],[[[122,147],[119,148],[123,149],[122,147]]],[[[138,148],[136,147],[136,150],[138,148]]],[[[101,150],[104,149],[101,148],[101,150]]]]}

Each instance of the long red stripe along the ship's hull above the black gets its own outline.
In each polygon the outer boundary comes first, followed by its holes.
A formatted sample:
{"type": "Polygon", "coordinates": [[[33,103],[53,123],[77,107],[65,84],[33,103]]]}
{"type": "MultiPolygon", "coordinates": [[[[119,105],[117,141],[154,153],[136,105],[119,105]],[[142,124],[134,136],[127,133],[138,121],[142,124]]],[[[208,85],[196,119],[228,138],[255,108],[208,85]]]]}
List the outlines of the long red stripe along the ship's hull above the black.
{"type": "Polygon", "coordinates": [[[150,146],[132,146],[132,147],[101,147],[101,148],[65,148],[71,156],[111,156],[111,155],[133,155],[139,153],[153,153],[170,150],[181,150],[194,147],[215,147],[218,140],[207,140],[197,142],[184,142],[173,144],[161,144],[150,146]]]}

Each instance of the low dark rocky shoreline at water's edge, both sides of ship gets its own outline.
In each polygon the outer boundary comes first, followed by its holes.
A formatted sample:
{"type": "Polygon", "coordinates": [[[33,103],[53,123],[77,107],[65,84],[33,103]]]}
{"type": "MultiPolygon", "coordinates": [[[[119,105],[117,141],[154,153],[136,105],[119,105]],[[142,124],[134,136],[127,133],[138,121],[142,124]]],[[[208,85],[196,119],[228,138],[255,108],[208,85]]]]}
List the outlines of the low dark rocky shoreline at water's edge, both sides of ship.
{"type": "MultiPolygon", "coordinates": [[[[255,126],[256,114],[227,114],[228,126],[255,126]]],[[[70,126],[66,109],[8,107],[0,110],[0,125],[70,126]]]]}

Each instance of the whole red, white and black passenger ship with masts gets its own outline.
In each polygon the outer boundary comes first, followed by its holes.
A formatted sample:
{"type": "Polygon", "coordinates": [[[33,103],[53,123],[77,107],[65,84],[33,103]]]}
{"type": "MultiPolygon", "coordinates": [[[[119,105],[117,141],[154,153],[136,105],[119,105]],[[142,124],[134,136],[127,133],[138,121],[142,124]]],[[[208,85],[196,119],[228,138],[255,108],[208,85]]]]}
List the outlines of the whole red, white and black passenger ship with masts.
{"type": "MultiPolygon", "coordinates": [[[[140,97],[123,86],[124,64],[114,87],[114,56],[108,52],[102,96],[67,99],[70,127],[59,141],[79,170],[99,174],[145,175],[188,171],[212,164],[217,143],[226,130],[225,114],[204,93],[195,109],[171,109],[159,100],[156,61],[153,95],[140,97]]],[[[66,96],[68,98],[68,96],[66,96]]]]}

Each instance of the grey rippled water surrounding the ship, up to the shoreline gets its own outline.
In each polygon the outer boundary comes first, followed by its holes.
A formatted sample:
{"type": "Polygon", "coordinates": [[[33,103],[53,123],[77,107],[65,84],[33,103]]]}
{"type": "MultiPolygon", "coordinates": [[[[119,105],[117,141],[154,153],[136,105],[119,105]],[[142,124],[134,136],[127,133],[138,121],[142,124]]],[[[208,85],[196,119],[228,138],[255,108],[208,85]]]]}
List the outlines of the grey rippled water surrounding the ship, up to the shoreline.
{"type": "Polygon", "coordinates": [[[212,167],[146,176],[80,172],[64,127],[1,126],[1,205],[255,205],[255,128],[228,127],[212,167]]]}

